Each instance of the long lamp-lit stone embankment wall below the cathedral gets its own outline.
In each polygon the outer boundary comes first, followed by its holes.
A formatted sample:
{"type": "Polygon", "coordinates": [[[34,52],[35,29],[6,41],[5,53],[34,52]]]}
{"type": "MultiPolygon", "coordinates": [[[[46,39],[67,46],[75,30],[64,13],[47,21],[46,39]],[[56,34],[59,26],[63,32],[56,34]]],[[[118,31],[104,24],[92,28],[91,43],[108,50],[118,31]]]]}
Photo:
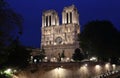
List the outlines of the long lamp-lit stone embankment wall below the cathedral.
{"type": "Polygon", "coordinates": [[[16,74],[18,78],[93,78],[113,70],[112,65],[97,62],[40,63],[16,74]]]}

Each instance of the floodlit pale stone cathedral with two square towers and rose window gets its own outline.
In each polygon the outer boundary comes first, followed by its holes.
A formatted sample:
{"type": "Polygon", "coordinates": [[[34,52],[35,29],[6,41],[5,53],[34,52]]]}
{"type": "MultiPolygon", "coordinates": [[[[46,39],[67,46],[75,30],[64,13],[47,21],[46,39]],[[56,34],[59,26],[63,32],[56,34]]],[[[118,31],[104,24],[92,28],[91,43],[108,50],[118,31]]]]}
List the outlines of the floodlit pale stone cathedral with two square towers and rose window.
{"type": "Polygon", "coordinates": [[[55,10],[46,10],[42,13],[41,47],[44,48],[47,58],[54,60],[64,53],[70,59],[76,48],[79,48],[78,33],[80,33],[79,14],[72,5],[64,7],[62,24],[55,10]]]}

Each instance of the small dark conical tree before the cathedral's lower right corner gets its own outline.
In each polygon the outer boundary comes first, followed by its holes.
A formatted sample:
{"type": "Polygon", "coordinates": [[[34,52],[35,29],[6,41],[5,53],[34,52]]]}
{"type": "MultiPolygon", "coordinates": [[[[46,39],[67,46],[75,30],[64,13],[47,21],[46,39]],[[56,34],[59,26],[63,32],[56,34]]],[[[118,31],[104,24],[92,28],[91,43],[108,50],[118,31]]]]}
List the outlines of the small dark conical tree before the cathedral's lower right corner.
{"type": "Polygon", "coordinates": [[[84,54],[81,52],[79,48],[75,49],[75,52],[72,56],[73,60],[75,61],[81,61],[84,59],[84,54]]]}

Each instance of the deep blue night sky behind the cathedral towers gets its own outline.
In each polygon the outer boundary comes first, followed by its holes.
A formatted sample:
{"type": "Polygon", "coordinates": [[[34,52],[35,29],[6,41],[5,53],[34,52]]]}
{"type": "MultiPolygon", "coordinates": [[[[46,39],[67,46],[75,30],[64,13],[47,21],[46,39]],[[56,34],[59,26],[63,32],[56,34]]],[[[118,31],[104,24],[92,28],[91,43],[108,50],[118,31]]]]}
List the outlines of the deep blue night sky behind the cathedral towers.
{"type": "Polygon", "coordinates": [[[40,28],[42,11],[54,9],[58,12],[60,23],[62,10],[74,4],[80,14],[81,27],[92,20],[110,20],[120,30],[120,0],[6,0],[10,7],[24,18],[23,45],[40,47],[40,28]]]}

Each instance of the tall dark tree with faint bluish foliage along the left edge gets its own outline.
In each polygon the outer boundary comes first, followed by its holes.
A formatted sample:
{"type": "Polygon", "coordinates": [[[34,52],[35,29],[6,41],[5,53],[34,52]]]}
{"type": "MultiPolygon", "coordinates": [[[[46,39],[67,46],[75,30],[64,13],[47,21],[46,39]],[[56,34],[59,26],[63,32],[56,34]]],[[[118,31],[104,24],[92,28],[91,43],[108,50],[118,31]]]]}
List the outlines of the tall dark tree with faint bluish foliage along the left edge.
{"type": "Polygon", "coordinates": [[[22,34],[22,17],[14,12],[4,0],[0,0],[0,64],[8,57],[7,48],[22,34]],[[7,31],[7,32],[6,32],[7,31]]]}

